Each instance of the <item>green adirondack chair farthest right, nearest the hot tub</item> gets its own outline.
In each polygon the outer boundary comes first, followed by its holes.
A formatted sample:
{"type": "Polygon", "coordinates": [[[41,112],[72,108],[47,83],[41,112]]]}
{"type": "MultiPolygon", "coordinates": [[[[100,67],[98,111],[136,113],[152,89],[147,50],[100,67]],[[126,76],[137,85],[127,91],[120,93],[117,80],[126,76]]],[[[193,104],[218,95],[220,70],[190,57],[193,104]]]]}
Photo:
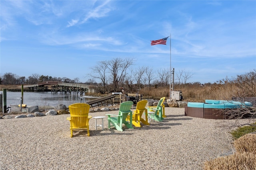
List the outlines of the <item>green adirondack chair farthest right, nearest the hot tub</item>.
{"type": "Polygon", "coordinates": [[[156,107],[148,107],[148,121],[155,120],[155,121],[162,121],[163,118],[163,108],[162,108],[162,102],[164,98],[161,98],[157,104],[156,107]]]}

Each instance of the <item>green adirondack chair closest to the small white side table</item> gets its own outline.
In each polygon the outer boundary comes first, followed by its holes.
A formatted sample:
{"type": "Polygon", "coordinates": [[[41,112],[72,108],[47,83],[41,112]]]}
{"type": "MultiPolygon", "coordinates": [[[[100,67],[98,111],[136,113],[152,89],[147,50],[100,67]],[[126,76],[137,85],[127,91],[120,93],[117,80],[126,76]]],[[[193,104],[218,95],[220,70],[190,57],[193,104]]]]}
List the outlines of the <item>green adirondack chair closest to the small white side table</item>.
{"type": "Polygon", "coordinates": [[[127,101],[120,104],[119,113],[118,115],[112,115],[112,114],[106,114],[108,115],[108,129],[110,129],[110,123],[111,126],[114,126],[116,130],[123,131],[122,124],[126,125],[129,129],[133,129],[132,127],[132,107],[133,102],[127,101]],[[128,114],[130,113],[130,123],[126,121],[126,118],[128,114]],[[114,116],[114,117],[111,117],[114,116]]]}

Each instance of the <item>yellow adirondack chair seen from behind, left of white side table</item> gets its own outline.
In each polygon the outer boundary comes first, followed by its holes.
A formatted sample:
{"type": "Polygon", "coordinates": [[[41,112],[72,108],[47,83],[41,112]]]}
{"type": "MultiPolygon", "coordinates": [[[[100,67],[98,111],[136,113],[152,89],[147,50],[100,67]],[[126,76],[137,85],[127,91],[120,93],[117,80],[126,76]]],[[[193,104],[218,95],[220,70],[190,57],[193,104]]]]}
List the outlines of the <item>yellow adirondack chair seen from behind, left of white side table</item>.
{"type": "Polygon", "coordinates": [[[89,132],[89,120],[92,116],[88,116],[90,105],[85,103],[76,103],[68,106],[70,111],[70,117],[67,120],[70,121],[70,137],[73,137],[73,131],[87,130],[87,136],[90,136],[89,132]]]}

